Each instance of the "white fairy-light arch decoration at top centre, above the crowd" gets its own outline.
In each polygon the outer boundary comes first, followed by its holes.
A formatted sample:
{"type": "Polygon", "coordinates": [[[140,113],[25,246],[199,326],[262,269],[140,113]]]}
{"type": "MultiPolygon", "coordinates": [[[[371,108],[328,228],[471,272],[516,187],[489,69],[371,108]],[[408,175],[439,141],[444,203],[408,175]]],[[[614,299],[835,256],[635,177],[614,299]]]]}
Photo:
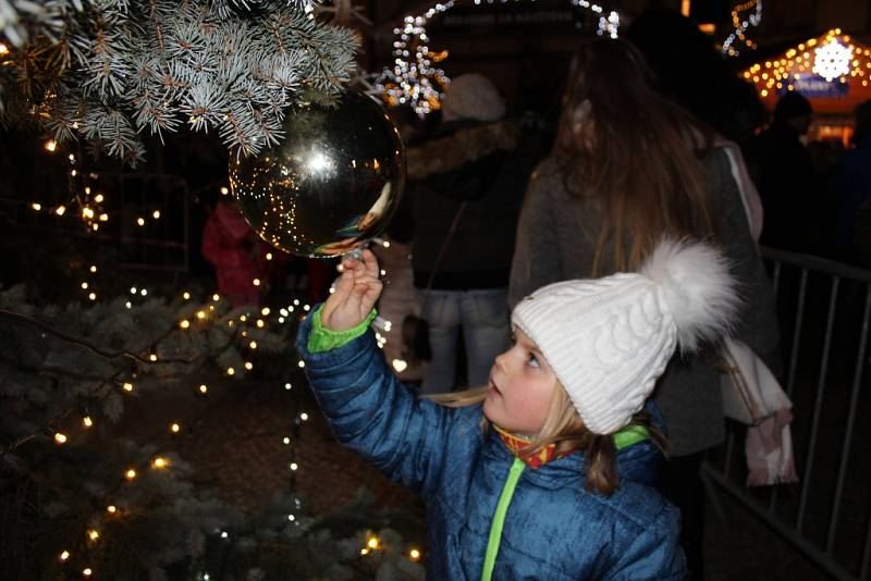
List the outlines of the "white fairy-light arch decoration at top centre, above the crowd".
{"type": "MultiPolygon", "coordinates": [[[[500,0],[503,4],[507,1],[500,0]]],[[[384,67],[375,83],[375,88],[389,107],[408,104],[421,118],[441,109],[444,97],[442,87],[447,86],[451,79],[439,67],[439,63],[447,58],[449,51],[430,50],[427,24],[437,15],[454,8],[455,3],[454,0],[439,2],[422,14],[408,14],[403,18],[402,26],[393,28],[393,65],[384,67]]],[[[476,5],[481,3],[482,0],[475,0],[476,5]]],[[[619,14],[616,11],[606,11],[588,0],[571,0],[571,3],[598,17],[599,36],[617,37],[619,14]]]]}

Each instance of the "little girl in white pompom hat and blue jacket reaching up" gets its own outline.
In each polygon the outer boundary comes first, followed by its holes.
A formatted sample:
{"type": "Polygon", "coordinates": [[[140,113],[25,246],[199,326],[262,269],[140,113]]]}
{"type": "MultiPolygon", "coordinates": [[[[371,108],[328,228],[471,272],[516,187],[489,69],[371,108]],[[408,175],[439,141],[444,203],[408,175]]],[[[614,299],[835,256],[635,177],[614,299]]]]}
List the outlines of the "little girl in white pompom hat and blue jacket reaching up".
{"type": "Polygon", "coordinates": [[[646,400],[678,343],[728,329],[737,300],[717,251],[663,240],[640,273],[537,290],[489,385],[441,404],[416,399],[367,332],[381,282],[363,259],[342,263],[297,348],[339,440],[426,498],[429,579],[686,577],[646,400]]]}

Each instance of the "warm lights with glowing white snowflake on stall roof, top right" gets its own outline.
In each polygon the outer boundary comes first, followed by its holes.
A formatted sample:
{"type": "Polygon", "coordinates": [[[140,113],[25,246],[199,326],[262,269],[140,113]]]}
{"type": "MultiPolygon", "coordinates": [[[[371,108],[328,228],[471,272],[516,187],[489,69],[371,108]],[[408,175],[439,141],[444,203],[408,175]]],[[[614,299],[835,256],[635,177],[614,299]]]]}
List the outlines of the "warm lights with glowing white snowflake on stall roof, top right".
{"type": "Polygon", "coordinates": [[[800,42],[780,59],[756,63],[743,72],[744,78],[752,81],[763,98],[796,90],[811,75],[838,84],[856,79],[867,87],[871,78],[871,50],[856,46],[849,35],[833,28],[821,37],[800,42]]]}

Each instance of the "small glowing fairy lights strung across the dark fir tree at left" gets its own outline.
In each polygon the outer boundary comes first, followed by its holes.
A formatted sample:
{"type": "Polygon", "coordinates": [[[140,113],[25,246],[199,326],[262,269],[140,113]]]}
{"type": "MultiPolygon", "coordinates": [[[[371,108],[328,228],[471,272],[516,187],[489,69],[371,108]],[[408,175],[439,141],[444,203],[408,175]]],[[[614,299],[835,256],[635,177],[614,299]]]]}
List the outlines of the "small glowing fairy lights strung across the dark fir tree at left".
{"type": "MultiPolygon", "coordinates": [[[[58,145],[56,143],[49,141],[45,145],[45,149],[49,152],[56,152],[58,149],[58,145]]],[[[70,163],[70,190],[72,193],[70,201],[65,205],[59,205],[57,207],[49,207],[42,208],[38,203],[33,205],[33,209],[36,211],[45,211],[50,212],[56,215],[64,215],[66,209],[77,205],[79,211],[79,215],[85,224],[88,225],[89,228],[97,231],[100,223],[105,223],[108,221],[108,215],[105,215],[106,212],[102,209],[101,203],[105,200],[105,196],[99,193],[91,194],[90,186],[85,185],[85,182],[82,178],[82,171],[77,166],[77,158],[75,154],[70,153],[68,156],[68,160],[70,163]],[[97,226],[97,227],[95,227],[97,226]]],[[[91,181],[98,180],[98,175],[88,175],[88,178],[91,181]]],[[[221,187],[220,188],[221,195],[226,196],[230,194],[229,188],[221,187]]],[[[158,211],[155,211],[155,214],[151,217],[154,220],[160,218],[158,211]]],[[[142,224],[139,224],[142,225],[142,224]]],[[[390,247],[390,240],[382,239],[382,238],[375,238],[371,240],[372,244],[382,246],[384,248],[390,247]]],[[[266,254],[266,260],[272,260],[272,254],[266,254]]],[[[97,288],[99,287],[98,276],[99,273],[103,272],[105,269],[101,269],[98,264],[91,263],[86,267],[86,272],[82,275],[82,283],[79,284],[79,288],[85,294],[85,298],[89,301],[96,301],[97,296],[97,288]]],[[[387,275],[385,271],[381,271],[382,275],[387,275]]],[[[256,287],[261,285],[261,281],[259,279],[254,279],[252,284],[256,287]]],[[[330,289],[333,292],[333,288],[330,289]]],[[[137,301],[147,300],[151,294],[147,285],[143,284],[134,284],[130,286],[130,296],[125,301],[124,306],[127,309],[133,309],[134,307],[138,306],[137,301]]],[[[189,307],[183,308],[180,312],[184,314],[177,320],[177,322],[173,325],[172,329],[167,330],[167,332],[158,337],[147,349],[139,354],[131,354],[131,356],[135,357],[138,362],[143,364],[162,364],[168,362],[179,362],[177,360],[168,359],[162,354],[160,343],[162,339],[170,336],[171,333],[174,332],[207,332],[209,325],[219,324],[218,317],[221,311],[223,311],[223,306],[221,305],[222,298],[219,294],[212,294],[209,301],[206,304],[194,305],[193,301],[194,296],[189,290],[184,290],[181,295],[181,304],[191,304],[189,307]]],[[[247,349],[248,354],[255,354],[258,348],[257,338],[254,336],[254,333],[257,331],[266,331],[270,329],[271,325],[278,324],[283,325],[289,322],[292,322],[292,318],[296,317],[299,320],[306,316],[311,309],[311,306],[300,301],[298,298],[294,298],[290,304],[286,306],[278,308],[275,311],[270,309],[270,307],[262,307],[259,311],[247,311],[243,312],[238,316],[233,318],[226,319],[225,324],[228,327],[233,330],[233,333],[230,335],[228,341],[228,347],[230,344],[236,343],[243,349],[247,349]]],[[[220,322],[223,324],[223,322],[220,322]]],[[[373,330],[376,333],[376,338],[378,342],[378,346],[380,348],[384,348],[387,344],[387,336],[391,331],[392,324],[390,321],[379,317],[373,323],[373,330]]],[[[237,378],[242,373],[250,372],[254,370],[254,363],[250,360],[250,357],[244,357],[242,369],[237,370],[233,366],[228,366],[223,369],[223,374],[225,378],[237,378]]],[[[394,359],[392,361],[394,369],[397,371],[402,371],[407,367],[407,363],[401,359],[394,359]]],[[[305,363],[302,359],[297,361],[298,368],[304,368],[305,363]]],[[[99,379],[99,378],[95,378],[99,379]]],[[[136,388],[136,373],[132,372],[128,376],[114,374],[111,378],[101,379],[99,381],[99,385],[96,392],[101,392],[105,386],[109,386],[113,391],[118,391],[118,393],[123,395],[133,395],[137,393],[136,388]]],[[[286,381],[283,384],[285,391],[293,390],[293,383],[291,381],[286,381]]],[[[206,383],[197,382],[194,386],[195,394],[201,398],[206,398],[209,393],[209,386],[206,383]]],[[[309,415],[304,409],[300,409],[299,406],[296,406],[297,412],[293,420],[290,422],[290,433],[282,436],[282,444],[283,446],[287,447],[286,453],[286,467],[289,470],[289,487],[291,492],[294,491],[296,484],[296,475],[300,469],[300,463],[298,459],[298,442],[299,442],[299,434],[303,424],[309,419],[309,415]]],[[[69,446],[73,444],[76,440],[77,432],[83,432],[90,430],[95,427],[95,424],[99,421],[99,418],[95,417],[88,409],[88,406],[76,406],[74,409],[66,409],[60,412],[58,416],[52,418],[51,420],[47,421],[42,427],[39,428],[38,433],[27,434],[12,445],[3,448],[0,452],[9,452],[14,449],[17,446],[24,445],[25,443],[35,440],[39,434],[45,433],[47,434],[51,441],[58,446],[69,446]],[[81,416],[81,422],[77,424],[78,428],[75,427],[75,423],[71,423],[69,421],[69,417],[73,413],[77,412],[81,416]],[[61,428],[61,423],[64,424],[64,428],[61,428]]],[[[184,431],[183,423],[179,419],[168,420],[167,422],[167,433],[169,436],[174,437],[177,436],[180,433],[184,431]]],[[[98,514],[91,515],[91,518],[85,520],[87,524],[84,529],[84,539],[85,539],[85,546],[84,549],[81,545],[76,545],[75,542],[71,542],[66,548],[63,548],[60,554],[58,555],[58,559],[63,565],[69,565],[72,563],[77,563],[81,566],[79,573],[84,578],[89,578],[91,576],[97,574],[99,564],[98,563],[87,563],[89,552],[87,547],[93,547],[96,543],[106,543],[109,542],[106,534],[106,527],[110,524],[111,520],[124,518],[125,515],[128,515],[135,511],[135,507],[124,506],[118,498],[113,498],[113,495],[116,495],[118,491],[123,485],[133,485],[138,479],[142,478],[144,473],[149,470],[152,471],[161,471],[161,470],[170,470],[172,468],[173,461],[171,459],[171,454],[167,452],[162,452],[160,454],[154,455],[147,461],[140,462],[136,466],[128,466],[124,469],[123,474],[120,474],[118,478],[118,485],[111,487],[109,492],[106,493],[105,497],[102,498],[102,504],[105,505],[105,510],[99,511],[98,514]],[[84,553],[76,555],[76,552],[84,553]]],[[[300,527],[306,522],[306,519],[303,515],[300,515],[300,510],[303,508],[303,503],[298,497],[294,497],[293,499],[293,509],[287,512],[286,521],[293,523],[295,527],[300,527]]],[[[214,534],[220,535],[222,539],[229,539],[231,533],[229,531],[213,531],[214,534]]],[[[365,545],[360,548],[359,555],[360,558],[366,557],[367,555],[375,554],[381,549],[388,548],[383,541],[380,540],[375,533],[368,532],[366,535],[365,545]]],[[[417,547],[406,547],[406,552],[404,555],[410,560],[419,560],[421,558],[420,549],[417,547]]],[[[207,572],[203,572],[200,574],[201,579],[209,579],[209,574],[207,572]]]]}

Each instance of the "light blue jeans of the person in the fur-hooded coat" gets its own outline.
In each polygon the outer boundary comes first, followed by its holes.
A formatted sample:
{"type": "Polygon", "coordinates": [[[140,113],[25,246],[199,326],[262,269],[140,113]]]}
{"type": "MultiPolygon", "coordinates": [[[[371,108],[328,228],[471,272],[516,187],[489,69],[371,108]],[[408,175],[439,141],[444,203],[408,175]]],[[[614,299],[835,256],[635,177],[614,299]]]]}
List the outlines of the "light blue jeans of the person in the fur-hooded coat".
{"type": "Polygon", "coordinates": [[[418,290],[429,322],[432,360],[420,386],[421,394],[450,392],[455,387],[456,344],[459,327],[466,347],[470,387],[486,385],[490,368],[511,342],[507,289],[418,290]]]}

